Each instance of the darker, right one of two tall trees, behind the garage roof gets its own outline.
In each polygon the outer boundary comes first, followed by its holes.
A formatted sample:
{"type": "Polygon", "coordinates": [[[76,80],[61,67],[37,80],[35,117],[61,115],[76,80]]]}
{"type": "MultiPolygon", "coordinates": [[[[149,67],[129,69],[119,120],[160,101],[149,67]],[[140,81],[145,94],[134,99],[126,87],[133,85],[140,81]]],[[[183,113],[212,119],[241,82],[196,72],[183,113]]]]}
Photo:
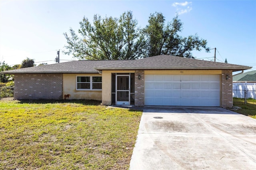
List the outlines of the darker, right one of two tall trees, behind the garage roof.
{"type": "Polygon", "coordinates": [[[148,25],[144,29],[147,41],[147,54],[155,55],[174,55],[180,57],[194,58],[191,51],[201,51],[205,49],[209,52],[207,41],[199,38],[197,34],[188,37],[179,36],[182,31],[182,25],[178,15],[171,22],[165,24],[165,18],[162,13],[156,12],[150,14],[148,25]]]}

